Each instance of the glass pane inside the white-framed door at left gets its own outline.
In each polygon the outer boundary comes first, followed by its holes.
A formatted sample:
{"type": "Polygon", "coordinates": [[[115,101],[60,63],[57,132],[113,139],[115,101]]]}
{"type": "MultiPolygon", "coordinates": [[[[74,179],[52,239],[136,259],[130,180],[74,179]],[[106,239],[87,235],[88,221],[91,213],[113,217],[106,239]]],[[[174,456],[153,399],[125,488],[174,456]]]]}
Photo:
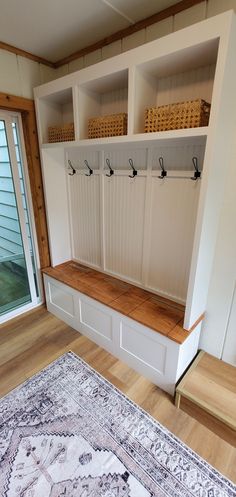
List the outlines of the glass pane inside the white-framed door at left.
{"type": "Polygon", "coordinates": [[[30,287],[6,126],[0,120],[0,315],[29,302],[30,287]]]}

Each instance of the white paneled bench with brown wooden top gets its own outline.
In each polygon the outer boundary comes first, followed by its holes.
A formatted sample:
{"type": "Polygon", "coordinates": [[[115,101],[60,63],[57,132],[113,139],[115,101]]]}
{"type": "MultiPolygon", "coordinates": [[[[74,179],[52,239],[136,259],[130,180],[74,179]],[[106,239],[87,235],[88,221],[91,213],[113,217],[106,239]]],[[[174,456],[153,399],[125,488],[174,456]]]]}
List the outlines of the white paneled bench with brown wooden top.
{"type": "Polygon", "coordinates": [[[187,331],[182,305],[73,261],[43,273],[50,312],[174,394],[201,322],[187,331]]]}

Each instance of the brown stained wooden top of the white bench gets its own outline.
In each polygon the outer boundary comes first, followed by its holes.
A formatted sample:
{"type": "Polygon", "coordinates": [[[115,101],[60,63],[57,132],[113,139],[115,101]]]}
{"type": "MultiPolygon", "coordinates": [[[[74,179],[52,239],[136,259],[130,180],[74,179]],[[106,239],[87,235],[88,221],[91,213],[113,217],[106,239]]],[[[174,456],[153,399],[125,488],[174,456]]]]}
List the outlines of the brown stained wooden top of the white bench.
{"type": "Polygon", "coordinates": [[[190,334],[183,328],[181,304],[73,261],[45,268],[43,273],[179,344],[190,334]]]}

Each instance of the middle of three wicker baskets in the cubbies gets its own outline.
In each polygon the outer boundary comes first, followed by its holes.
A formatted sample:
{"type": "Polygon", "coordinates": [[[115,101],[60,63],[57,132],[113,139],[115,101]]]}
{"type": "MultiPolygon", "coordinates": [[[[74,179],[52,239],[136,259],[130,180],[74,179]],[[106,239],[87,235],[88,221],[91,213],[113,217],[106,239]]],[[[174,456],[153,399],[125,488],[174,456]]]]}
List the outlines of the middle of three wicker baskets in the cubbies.
{"type": "Polygon", "coordinates": [[[88,137],[104,138],[106,136],[127,135],[127,114],[94,117],[88,120],[88,137]]]}

